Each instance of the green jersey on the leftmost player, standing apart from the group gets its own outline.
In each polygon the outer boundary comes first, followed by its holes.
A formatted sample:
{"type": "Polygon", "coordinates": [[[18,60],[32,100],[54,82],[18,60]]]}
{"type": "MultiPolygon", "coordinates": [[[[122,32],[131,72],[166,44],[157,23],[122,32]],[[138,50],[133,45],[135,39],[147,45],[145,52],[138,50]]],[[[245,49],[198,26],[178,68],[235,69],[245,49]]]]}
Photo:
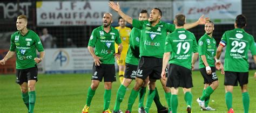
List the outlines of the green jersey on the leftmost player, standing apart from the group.
{"type": "Polygon", "coordinates": [[[34,58],[37,53],[43,52],[44,48],[38,35],[29,30],[24,36],[20,31],[11,35],[10,51],[16,51],[16,69],[27,69],[36,66],[34,58]]]}

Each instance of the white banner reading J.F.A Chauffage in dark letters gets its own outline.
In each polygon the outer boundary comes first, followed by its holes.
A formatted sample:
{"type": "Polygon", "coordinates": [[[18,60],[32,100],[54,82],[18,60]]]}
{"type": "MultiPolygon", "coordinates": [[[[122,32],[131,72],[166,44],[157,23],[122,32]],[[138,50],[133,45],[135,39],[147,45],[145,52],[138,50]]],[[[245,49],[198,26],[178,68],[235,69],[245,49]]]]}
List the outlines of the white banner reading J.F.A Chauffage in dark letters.
{"type": "Polygon", "coordinates": [[[36,2],[37,26],[101,25],[108,1],[36,2]]]}

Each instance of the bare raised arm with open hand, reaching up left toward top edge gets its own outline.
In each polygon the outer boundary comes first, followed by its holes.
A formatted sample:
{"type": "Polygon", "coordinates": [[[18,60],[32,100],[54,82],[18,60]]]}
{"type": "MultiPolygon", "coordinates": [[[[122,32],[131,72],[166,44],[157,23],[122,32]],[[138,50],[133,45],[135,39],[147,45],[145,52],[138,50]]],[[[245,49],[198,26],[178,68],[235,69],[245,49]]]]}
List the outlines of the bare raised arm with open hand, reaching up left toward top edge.
{"type": "Polygon", "coordinates": [[[112,8],[114,11],[116,11],[127,23],[132,24],[132,17],[126,15],[121,9],[119,2],[115,4],[114,2],[110,1],[109,2],[110,8],[112,8]]]}

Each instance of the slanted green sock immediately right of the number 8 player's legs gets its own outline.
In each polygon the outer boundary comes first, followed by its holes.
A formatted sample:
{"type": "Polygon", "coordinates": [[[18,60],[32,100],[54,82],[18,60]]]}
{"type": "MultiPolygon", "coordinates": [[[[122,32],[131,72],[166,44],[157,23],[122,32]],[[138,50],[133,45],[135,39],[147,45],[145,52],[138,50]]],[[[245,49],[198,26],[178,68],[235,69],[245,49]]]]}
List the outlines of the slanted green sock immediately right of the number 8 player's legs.
{"type": "Polygon", "coordinates": [[[116,103],[114,104],[114,111],[118,111],[120,109],[120,104],[124,99],[125,92],[126,92],[126,87],[123,84],[121,84],[117,90],[117,98],[116,98],[116,103]]]}

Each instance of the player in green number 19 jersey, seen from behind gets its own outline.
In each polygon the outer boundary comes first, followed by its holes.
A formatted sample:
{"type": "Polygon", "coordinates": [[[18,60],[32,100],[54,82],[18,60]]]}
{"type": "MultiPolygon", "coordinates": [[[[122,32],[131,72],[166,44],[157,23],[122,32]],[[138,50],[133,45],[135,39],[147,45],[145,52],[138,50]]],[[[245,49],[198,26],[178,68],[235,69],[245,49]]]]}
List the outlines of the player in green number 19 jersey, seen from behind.
{"type": "Polygon", "coordinates": [[[192,107],[191,88],[193,83],[191,68],[193,69],[194,63],[198,58],[198,47],[194,34],[184,29],[185,20],[186,18],[183,14],[175,16],[174,24],[176,25],[176,30],[166,37],[163,68],[161,69],[161,76],[165,78],[165,68],[167,63],[170,63],[166,86],[170,87],[172,92],[172,113],[177,112],[179,87],[183,88],[183,93],[185,94],[187,112],[191,112],[192,107]],[[192,55],[192,53],[194,54],[192,55]]]}

